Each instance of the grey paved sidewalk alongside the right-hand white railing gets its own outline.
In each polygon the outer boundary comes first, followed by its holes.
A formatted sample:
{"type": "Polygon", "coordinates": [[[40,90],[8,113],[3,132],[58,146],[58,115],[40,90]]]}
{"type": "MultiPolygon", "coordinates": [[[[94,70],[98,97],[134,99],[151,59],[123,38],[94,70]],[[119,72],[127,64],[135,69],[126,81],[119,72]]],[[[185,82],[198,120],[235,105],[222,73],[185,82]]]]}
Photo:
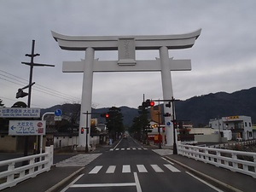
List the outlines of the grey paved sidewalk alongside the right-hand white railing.
{"type": "Polygon", "coordinates": [[[183,168],[196,177],[201,177],[203,180],[212,183],[212,185],[224,191],[254,192],[256,189],[256,179],[253,177],[238,172],[231,172],[230,170],[189,159],[178,154],[171,154],[166,157],[176,163],[176,165],[183,166],[183,168]]]}

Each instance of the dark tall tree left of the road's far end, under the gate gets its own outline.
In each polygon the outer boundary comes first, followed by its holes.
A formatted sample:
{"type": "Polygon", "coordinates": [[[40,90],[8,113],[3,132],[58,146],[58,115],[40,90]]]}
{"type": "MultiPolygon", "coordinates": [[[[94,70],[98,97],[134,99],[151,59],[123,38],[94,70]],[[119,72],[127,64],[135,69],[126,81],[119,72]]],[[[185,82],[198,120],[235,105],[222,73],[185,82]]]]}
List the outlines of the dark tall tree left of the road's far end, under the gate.
{"type": "Polygon", "coordinates": [[[125,130],[123,124],[123,114],[120,108],[112,107],[108,109],[109,117],[106,119],[108,134],[110,138],[116,140],[119,134],[125,130]]]}

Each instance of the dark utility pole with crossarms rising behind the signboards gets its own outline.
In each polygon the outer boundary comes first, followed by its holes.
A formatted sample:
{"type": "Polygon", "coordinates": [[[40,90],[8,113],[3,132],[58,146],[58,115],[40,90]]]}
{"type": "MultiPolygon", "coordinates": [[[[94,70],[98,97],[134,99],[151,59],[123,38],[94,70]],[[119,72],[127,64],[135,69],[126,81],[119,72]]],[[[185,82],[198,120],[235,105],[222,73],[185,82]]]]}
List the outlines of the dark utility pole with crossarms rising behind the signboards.
{"type": "MultiPolygon", "coordinates": [[[[25,56],[28,56],[31,58],[30,62],[21,62],[22,64],[30,66],[30,74],[29,74],[29,83],[28,83],[28,98],[27,98],[27,108],[30,108],[31,106],[31,96],[32,96],[32,74],[33,74],[33,67],[55,67],[54,65],[48,65],[48,64],[39,64],[34,63],[34,57],[39,56],[40,54],[34,54],[35,50],[35,40],[32,40],[32,51],[31,54],[26,54],[25,56]]],[[[28,136],[25,136],[25,144],[24,144],[24,156],[27,156],[28,152],[28,136]]]]}

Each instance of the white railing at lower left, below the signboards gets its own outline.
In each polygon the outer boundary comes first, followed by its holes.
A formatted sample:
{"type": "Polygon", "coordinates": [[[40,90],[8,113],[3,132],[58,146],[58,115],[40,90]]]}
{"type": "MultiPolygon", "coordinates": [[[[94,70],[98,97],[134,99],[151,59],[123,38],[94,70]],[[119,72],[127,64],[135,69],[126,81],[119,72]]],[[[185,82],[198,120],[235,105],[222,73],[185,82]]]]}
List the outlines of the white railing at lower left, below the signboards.
{"type": "Polygon", "coordinates": [[[13,187],[27,178],[36,177],[42,172],[48,172],[53,165],[53,146],[46,147],[44,154],[33,154],[12,160],[0,161],[0,167],[5,171],[0,172],[0,190],[13,187]],[[22,162],[28,161],[23,166],[22,162]]]}

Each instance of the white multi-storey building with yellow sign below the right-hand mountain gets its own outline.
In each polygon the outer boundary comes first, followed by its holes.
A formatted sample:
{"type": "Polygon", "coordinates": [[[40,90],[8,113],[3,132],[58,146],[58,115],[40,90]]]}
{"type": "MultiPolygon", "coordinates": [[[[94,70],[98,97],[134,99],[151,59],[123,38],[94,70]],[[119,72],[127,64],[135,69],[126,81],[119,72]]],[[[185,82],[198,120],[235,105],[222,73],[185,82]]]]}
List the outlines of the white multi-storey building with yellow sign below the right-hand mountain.
{"type": "Polygon", "coordinates": [[[233,140],[253,139],[252,118],[243,115],[222,117],[220,119],[211,119],[209,126],[220,132],[225,130],[232,131],[233,140]]]}

